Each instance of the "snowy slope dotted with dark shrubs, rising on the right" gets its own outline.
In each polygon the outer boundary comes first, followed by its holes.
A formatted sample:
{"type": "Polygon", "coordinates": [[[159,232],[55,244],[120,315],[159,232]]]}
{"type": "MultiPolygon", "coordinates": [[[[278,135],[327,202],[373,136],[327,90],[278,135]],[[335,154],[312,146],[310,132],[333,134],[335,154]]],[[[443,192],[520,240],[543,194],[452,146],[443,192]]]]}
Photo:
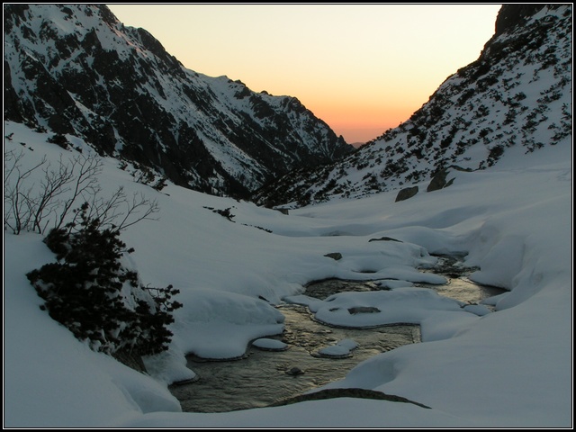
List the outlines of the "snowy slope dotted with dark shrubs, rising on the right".
{"type": "Polygon", "coordinates": [[[451,170],[482,170],[571,139],[572,5],[504,4],[480,58],[408,121],[335,163],[280,177],[254,200],[297,207],[402,188],[410,195],[431,179],[428,190],[445,187],[451,170]]]}

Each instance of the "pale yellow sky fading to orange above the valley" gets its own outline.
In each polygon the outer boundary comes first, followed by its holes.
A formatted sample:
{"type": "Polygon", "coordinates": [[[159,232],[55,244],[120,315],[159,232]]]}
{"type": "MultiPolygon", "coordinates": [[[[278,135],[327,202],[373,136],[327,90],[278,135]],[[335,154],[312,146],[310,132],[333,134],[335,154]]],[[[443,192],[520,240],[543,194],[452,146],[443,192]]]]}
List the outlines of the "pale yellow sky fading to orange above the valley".
{"type": "Polygon", "coordinates": [[[108,4],[184,67],[297,97],[348,143],[410,118],[476,60],[500,4],[108,4]]]}

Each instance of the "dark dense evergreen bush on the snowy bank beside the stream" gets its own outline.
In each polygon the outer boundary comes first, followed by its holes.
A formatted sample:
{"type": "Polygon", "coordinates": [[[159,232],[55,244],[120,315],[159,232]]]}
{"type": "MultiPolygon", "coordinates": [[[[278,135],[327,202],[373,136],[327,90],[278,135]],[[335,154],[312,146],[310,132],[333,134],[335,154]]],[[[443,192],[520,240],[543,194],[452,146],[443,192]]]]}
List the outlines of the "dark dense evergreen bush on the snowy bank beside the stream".
{"type": "Polygon", "coordinates": [[[79,223],[51,229],[44,239],[58,262],[27,275],[45,301],[42,309],[94,351],[145,356],[166,350],[171,312],[182,306],[171,300],[178,290],[141,285],[136,272],[121,266],[122,255],[133,249],[118,238],[119,230],[90,219],[87,209],[78,210],[79,223]]]}

